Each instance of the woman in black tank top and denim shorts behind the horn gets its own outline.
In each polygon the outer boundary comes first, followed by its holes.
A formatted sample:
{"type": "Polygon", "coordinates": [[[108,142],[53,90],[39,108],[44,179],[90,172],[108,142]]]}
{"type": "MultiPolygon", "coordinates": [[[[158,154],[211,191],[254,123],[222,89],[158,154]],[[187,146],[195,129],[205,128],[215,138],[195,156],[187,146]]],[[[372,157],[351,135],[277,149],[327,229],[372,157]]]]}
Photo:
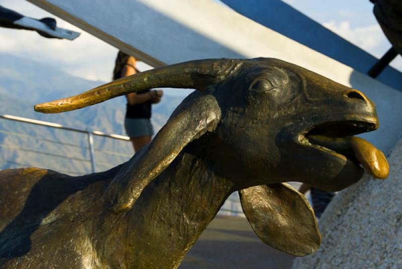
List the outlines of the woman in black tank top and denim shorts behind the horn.
{"type": "MultiPolygon", "coordinates": [[[[138,73],[136,59],[119,51],[113,80],[138,73]]],[[[130,137],[134,151],[138,152],[142,147],[151,142],[154,130],[151,124],[151,105],[159,103],[162,98],[161,90],[144,90],[136,93],[129,93],[127,98],[126,117],[124,127],[130,137]]]]}

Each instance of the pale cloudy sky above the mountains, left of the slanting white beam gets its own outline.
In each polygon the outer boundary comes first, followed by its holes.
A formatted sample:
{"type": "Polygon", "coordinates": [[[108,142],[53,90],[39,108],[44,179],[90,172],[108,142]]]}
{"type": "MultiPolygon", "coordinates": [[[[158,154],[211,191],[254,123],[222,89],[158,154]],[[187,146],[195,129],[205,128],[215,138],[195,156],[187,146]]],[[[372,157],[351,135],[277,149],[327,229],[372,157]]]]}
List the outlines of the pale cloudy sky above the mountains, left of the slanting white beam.
{"type": "Polygon", "coordinates": [[[0,28],[0,52],[47,62],[85,79],[111,80],[116,48],[25,1],[1,1],[0,5],[32,18],[56,18],[58,27],[81,33],[68,41],[43,38],[33,31],[0,28]]]}

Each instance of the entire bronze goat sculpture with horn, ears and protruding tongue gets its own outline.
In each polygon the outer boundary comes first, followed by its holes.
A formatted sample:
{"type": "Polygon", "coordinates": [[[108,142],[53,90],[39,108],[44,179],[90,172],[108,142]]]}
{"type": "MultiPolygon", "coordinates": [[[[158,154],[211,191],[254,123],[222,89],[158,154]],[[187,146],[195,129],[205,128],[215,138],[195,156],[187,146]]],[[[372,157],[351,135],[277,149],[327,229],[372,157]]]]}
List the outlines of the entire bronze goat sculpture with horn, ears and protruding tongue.
{"type": "Polygon", "coordinates": [[[277,59],[191,61],[37,105],[54,113],[145,88],[194,88],[147,147],[107,172],[0,172],[0,268],[175,268],[239,191],[262,241],[293,255],[320,245],[313,211],[283,183],[337,191],[383,154],[353,138],[375,130],[374,104],[277,59]]]}

